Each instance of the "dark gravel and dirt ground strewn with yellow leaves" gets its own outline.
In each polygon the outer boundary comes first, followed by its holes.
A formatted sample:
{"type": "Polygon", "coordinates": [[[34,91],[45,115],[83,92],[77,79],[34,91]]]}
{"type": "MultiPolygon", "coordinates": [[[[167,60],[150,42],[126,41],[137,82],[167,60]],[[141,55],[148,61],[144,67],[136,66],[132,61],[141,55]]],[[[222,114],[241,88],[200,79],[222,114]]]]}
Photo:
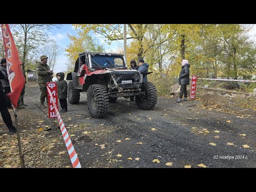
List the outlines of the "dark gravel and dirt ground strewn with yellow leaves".
{"type": "MultiPolygon", "coordinates": [[[[37,107],[39,95],[39,86],[28,82],[28,106],[18,110],[25,167],[72,167],[60,130],[46,117],[47,109],[44,114],[37,107]]],[[[158,97],[155,109],[146,111],[118,98],[105,118],[93,119],[81,93],[78,105],[68,103],[61,117],[83,168],[256,167],[255,99],[244,99],[243,106],[212,99],[219,102],[158,97]]],[[[11,116],[14,122],[13,111],[11,116]]],[[[0,117],[0,167],[20,167],[17,143],[0,117]]]]}

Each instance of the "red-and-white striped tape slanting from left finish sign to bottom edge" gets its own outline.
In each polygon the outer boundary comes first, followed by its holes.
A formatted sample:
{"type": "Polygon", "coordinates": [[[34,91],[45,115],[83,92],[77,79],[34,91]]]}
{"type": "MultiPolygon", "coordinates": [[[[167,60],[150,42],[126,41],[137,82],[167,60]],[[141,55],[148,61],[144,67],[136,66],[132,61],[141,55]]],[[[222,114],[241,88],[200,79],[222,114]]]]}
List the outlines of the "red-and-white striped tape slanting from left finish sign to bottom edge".
{"type": "Polygon", "coordinates": [[[47,90],[50,94],[50,97],[51,97],[51,100],[52,100],[52,103],[53,103],[53,106],[54,106],[54,109],[55,109],[55,113],[57,114],[57,118],[58,118],[58,121],[59,121],[62,137],[63,137],[63,139],[65,141],[65,144],[66,144],[66,147],[68,149],[68,155],[69,155],[69,158],[70,158],[71,163],[73,165],[73,168],[81,168],[81,164],[80,164],[79,159],[76,155],[76,151],[75,151],[75,149],[73,147],[73,144],[72,144],[72,142],[69,138],[68,131],[67,131],[62,119],[61,119],[61,116],[59,114],[59,110],[57,109],[57,106],[56,106],[56,104],[53,100],[53,96],[52,96],[52,93],[51,93],[49,87],[47,87],[47,90]]]}

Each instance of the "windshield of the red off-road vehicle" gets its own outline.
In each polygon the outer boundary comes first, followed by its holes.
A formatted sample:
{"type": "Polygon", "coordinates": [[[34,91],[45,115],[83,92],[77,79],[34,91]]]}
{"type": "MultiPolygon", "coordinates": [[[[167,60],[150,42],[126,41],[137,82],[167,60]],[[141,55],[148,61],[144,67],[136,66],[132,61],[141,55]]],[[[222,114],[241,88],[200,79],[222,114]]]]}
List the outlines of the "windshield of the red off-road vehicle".
{"type": "Polygon", "coordinates": [[[124,61],[122,56],[105,56],[105,55],[95,55],[92,58],[93,68],[115,68],[124,67],[124,61]],[[99,65],[99,66],[98,66],[99,65]]]}

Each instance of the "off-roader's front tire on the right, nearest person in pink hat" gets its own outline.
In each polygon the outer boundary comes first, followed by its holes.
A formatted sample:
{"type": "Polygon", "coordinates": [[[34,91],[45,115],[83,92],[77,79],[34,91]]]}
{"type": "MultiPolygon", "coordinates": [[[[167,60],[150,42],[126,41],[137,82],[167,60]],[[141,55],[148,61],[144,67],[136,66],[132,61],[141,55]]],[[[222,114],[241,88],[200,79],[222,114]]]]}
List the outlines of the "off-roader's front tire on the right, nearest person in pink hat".
{"type": "Polygon", "coordinates": [[[143,83],[142,90],[145,92],[145,95],[135,97],[137,106],[143,110],[153,109],[157,102],[156,87],[149,82],[143,83]]]}

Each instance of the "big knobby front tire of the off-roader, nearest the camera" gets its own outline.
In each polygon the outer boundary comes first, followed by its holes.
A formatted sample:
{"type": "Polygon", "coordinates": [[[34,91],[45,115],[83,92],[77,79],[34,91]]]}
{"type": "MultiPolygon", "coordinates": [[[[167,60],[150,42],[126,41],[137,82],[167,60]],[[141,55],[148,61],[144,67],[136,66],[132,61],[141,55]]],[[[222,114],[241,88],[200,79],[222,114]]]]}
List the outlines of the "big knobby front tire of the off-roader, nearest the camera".
{"type": "Polygon", "coordinates": [[[88,110],[92,118],[105,117],[109,100],[108,93],[103,85],[90,85],[87,90],[88,110]]]}

